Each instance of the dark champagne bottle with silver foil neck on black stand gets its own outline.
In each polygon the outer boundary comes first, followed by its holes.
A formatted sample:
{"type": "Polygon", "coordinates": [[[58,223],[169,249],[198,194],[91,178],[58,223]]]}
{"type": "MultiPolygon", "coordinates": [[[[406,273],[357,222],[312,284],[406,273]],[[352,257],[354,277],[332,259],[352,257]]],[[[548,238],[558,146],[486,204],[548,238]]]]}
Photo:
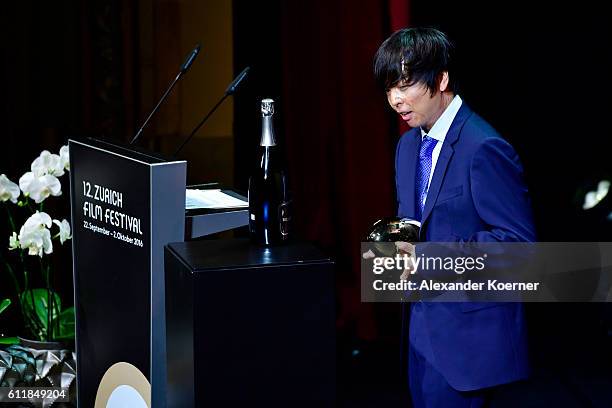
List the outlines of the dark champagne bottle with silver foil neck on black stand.
{"type": "Polygon", "coordinates": [[[257,244],[274,245],[290,236],[291,207],[287,172],[274,134],[274,101],[261,101],[259,161],[249,179],[249,231],[257,244]]]}

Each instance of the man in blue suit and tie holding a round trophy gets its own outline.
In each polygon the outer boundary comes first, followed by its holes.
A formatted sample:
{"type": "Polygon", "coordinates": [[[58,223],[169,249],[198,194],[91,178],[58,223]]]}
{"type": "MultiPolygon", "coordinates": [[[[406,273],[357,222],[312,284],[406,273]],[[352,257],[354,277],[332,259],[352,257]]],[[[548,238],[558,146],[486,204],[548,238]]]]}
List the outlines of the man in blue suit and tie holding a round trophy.
{"type": "MultiPolygon", "coordinates": [[[[374,72],[412,128],[397,145],[396,188],[399,215],[421,221],[421,240],[534,241],[519,158],[456,94],[446,35],[397,31],[378,49],[374,72]]],[[[416,407],[480,407],[492,387],[527,377],[521,304],[419,301],[410,315],[416,407]]]]}

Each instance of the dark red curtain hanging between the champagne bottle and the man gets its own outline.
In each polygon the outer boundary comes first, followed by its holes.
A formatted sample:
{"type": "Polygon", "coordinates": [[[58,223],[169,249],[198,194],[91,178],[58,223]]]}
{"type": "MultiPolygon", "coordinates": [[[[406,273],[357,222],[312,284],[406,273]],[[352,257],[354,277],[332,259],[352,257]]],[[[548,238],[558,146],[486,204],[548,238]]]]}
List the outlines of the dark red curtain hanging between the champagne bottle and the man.
{"type": "Polygon", "coordinates": [[[296,226],[337,256],[339,327],[369,339],[377,330],[372,305],[360,302],[360,242],[374,221],[396,212],[396,137],[372,75],[389,31],[387,5],[283,2],[282,21],[296,226]]]}

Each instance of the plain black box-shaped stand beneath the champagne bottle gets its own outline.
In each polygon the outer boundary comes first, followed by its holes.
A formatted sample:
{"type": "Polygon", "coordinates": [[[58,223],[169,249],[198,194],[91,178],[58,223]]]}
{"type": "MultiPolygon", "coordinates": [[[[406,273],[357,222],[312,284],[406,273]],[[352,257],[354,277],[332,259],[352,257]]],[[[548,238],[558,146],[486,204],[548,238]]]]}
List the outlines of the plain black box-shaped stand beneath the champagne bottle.
{"type": "Polygon", "coordinates": [[[165,249],[169,407],[335,405],[333,262],[310,244],[165,249]]]}

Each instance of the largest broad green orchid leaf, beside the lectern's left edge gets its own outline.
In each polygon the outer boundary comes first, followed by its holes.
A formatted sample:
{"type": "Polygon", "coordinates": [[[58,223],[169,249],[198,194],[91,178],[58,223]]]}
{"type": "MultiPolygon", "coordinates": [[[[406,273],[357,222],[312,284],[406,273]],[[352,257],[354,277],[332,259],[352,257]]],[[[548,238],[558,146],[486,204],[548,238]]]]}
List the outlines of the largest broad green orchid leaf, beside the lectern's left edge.
{"type": "Polygon", "coordinates": [[[19,298],[25,314],[26,327],[39,340],[51,340],[47,338],[47,314],[48,311],[51,311],[51,306],[48,301],[53,301],[53,310],[50,316],[52,321],[55,322],[62,307],[59,295],[50,291],[49,296],[47,289],[38,288],[22,292],[19,298]]]}

